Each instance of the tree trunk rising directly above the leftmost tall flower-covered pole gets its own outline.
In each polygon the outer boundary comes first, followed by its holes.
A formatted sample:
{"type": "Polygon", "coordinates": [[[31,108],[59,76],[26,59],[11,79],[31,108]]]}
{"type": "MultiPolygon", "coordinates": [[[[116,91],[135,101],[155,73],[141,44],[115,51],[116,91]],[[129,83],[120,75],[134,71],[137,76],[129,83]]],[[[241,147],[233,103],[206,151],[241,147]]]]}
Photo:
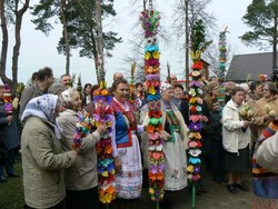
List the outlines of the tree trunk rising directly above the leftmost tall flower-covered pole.
{"type": "Polygon", "coordinates": [[[96,20],[97,20],[97,71],[98,82],[105,81],[105,58],[103,58],[103,37],[102,37],[102,20],[101,20],[101,0],[96,1],[96,20]]]}

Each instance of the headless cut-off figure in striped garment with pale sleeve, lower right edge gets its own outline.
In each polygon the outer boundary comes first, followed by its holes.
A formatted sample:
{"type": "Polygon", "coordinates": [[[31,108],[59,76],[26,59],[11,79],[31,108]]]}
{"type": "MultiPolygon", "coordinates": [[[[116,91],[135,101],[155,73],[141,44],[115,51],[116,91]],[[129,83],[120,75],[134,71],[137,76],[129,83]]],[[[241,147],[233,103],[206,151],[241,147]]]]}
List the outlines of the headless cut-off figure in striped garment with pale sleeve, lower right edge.
{"type": "Polygon", "coordinates": [[[259,137],[252,157],[252,209],[278,208],[278,118],[259,137]]]}

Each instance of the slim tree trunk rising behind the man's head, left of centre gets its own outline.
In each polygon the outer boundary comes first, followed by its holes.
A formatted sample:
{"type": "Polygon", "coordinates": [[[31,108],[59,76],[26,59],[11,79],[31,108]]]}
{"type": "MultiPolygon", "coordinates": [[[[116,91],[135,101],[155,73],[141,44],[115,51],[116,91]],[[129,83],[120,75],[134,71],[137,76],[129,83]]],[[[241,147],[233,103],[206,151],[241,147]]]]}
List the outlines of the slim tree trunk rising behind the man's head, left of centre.
{"type": "Polygon", "coordinates": [[[68,32],[68,21],[66,17],[67,11],[67,2],[66,0],[61,0],[61,20],[62,20],[62,29],[63,29],[63,38],[66,44],[66,74],[70,73],[70,47],[69,47],[69,32],[68,32]]]}

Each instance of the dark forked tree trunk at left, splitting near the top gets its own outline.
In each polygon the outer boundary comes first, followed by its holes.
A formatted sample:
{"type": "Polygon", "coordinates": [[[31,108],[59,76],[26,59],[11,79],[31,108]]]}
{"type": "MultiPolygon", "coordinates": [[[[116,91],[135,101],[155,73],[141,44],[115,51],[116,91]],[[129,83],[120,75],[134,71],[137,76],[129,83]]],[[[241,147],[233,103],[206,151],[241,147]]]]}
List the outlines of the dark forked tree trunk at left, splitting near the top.
{"type": "Polygon", "coordinates": [[[18,83],[18,59],[19,59],[19,50],[21,46],[21,37],[20,37],[20,31],[21,31],[21,24],[22,24],[22,18],[27,9],[29,8],[30,0],[26,0],[26,3],[23,7],[18,10],[19,6],[19,0],[16,1],[16,30],[14,30],[14,39],[16,43],[13,46],[13,51],[12,51],[12,83],[13,86],[11,89],[14,91],[17,88],[18,83]]]}

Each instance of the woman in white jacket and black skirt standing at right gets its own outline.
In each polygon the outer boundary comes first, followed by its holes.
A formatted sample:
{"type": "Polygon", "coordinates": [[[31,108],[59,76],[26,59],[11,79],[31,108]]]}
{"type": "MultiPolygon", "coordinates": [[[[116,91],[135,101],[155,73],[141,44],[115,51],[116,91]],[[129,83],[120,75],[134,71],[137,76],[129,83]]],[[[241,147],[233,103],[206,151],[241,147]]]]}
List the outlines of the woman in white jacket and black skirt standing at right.
{"type": "Polygon", "coordinates": [[[242,182],[242,171],[249,168],[250,121],[241,120],[239,108],[245,100],[246,91],[236,87],[231,91],[231,100],[222,110],[222,143],[225,149],[225,163],[227,170],[227,189],[231,193],[237,188],[248,191],[242,182]]]}

